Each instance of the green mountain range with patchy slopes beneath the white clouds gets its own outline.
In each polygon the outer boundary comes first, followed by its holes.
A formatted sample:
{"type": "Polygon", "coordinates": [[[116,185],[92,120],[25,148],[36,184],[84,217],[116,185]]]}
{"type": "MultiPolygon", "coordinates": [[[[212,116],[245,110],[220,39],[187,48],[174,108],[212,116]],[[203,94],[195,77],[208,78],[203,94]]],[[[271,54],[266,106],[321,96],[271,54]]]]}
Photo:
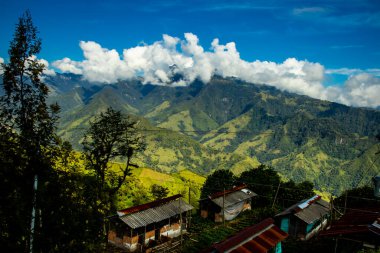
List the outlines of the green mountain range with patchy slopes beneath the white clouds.
{"type": "Polygon", "coordinates": [[[59,135],[80,150],[94,115],[112,106],[139,121],[140,164],[157,171],[235,174],[264,163],[284,179],[338,194],[380,173],[380,111],[296,95],[236,78],[172,87],[142,80],[95,84],[57,74],[45,82],[61,106],[59,135]]]}

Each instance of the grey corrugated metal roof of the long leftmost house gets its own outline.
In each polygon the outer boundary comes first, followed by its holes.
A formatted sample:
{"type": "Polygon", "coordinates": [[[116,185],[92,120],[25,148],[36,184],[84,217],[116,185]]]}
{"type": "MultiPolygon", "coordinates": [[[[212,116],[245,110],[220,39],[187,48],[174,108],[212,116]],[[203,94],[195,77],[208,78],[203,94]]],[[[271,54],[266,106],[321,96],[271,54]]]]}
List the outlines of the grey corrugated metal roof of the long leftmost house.
{"type": "Polygon", "coordinates": [[[129,227],[135,229],[152,223],[169,219],[177,214],[192,210],[194,207],[183,199],[173,200],[153,208],[145,209],[121,216],[120,219],[129,227]]]}

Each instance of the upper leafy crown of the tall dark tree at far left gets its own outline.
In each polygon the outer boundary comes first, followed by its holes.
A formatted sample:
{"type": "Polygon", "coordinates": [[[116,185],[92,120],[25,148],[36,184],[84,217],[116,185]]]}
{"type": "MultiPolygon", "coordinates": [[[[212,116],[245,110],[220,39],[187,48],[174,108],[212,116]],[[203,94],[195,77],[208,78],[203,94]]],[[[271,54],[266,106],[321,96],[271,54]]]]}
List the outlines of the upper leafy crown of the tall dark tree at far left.
{"type": "Polygon", "coordinates": [[[41,50],[37,33],[30,13],[25,12],[10,43],[9,63],[2,64],[5,95],[1,99],[3,116],[18,129],[23,145],[35,153],[40,145],[54,141],[59,110],[57,104],[46,104],[49,90],[41,81],[45,66],[36,58],[41,50]]]}

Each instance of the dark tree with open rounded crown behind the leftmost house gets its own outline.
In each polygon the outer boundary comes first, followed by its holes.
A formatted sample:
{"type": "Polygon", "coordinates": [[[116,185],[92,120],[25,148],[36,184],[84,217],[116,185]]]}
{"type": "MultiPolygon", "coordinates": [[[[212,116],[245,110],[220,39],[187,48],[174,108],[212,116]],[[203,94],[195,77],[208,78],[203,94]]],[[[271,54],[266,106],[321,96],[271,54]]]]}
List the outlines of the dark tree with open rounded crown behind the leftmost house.
{"type": "Polygon", "coordinates": [[[116,193],[131,175],[137,152],[144,150],[144,140],[137,129],[137,121],[120,111],[108,108],[95,117],[85,134],[83,152],[87,167],[97,178],[94,208],[105,217],[115,211],[116,193]],[[115,161],[123,161],[117,165],[115,161]]]}

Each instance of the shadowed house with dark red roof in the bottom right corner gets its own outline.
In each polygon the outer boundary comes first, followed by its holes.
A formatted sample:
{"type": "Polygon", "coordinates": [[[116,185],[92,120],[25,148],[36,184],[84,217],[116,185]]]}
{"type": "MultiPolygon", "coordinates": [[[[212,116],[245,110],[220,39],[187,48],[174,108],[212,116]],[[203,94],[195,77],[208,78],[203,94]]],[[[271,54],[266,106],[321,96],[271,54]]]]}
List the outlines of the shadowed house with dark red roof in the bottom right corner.
{"type": "MultiPolygon", "coordinates": [[[[320,237],[335,238],[339,250],[380,248],[380,208],[351,209],[322,231],[320,237]]],[[[346,252],[346,251],[345,251],[346,252]]]]}

